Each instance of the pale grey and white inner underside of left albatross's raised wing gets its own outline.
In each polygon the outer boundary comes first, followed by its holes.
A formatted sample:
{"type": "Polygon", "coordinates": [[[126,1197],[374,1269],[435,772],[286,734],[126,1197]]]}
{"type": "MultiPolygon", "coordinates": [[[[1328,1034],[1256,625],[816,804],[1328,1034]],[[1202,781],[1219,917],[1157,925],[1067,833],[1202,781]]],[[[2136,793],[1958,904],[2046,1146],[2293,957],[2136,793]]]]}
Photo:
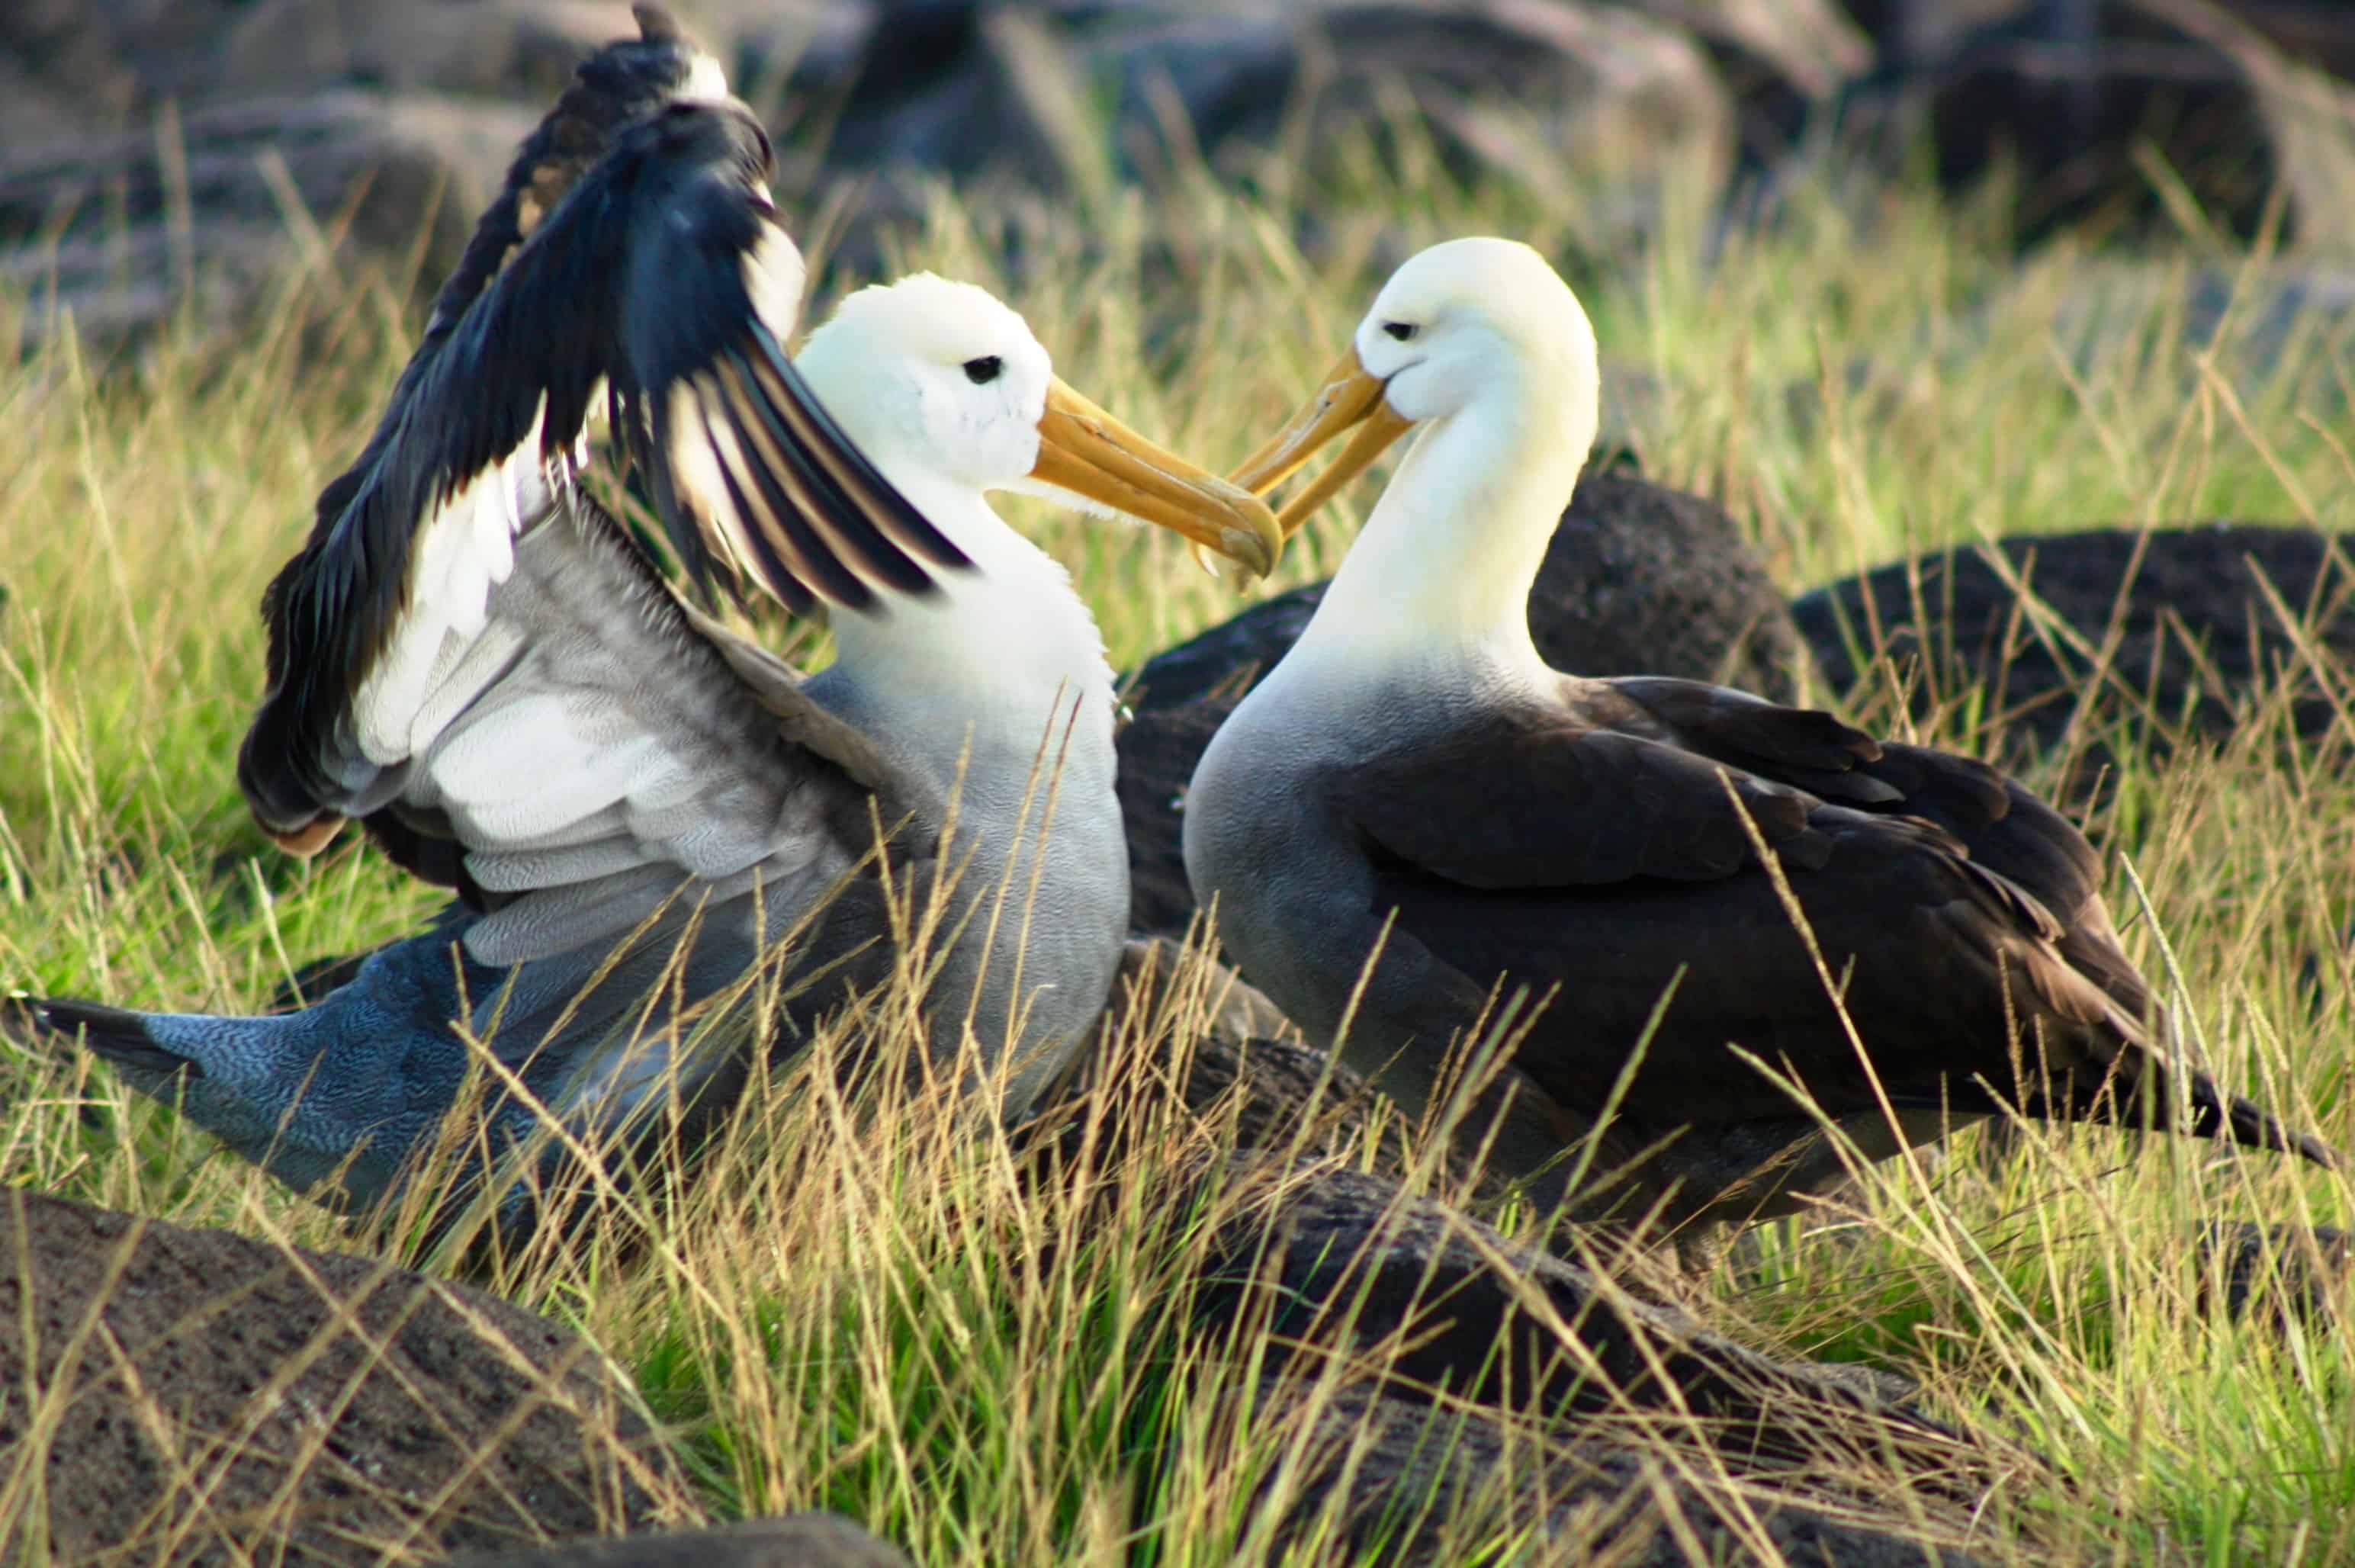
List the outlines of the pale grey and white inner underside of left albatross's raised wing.
{"type": "Polygon", "coordinates": [[[692,614],[589,497],[544,494],[480,605],[438,619],[412,664],[433,678],[370,683],[374,765],[334,803],[396,803],[462,845],[495,899],[476,961],[593,963],[666,906],[749,921],[754,888],[798,906],[869,852],[860,737],[692,614]]]}

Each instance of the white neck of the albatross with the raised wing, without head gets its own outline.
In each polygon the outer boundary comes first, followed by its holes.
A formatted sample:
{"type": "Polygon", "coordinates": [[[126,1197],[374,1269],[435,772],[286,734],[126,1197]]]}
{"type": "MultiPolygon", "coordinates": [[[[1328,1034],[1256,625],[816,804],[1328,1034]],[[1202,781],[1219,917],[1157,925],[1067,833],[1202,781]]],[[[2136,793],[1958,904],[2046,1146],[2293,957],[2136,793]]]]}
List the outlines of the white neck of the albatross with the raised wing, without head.
{"type": "MultiPolygon", "coordinates": [[[[1079,706],[1074,749],[1112,756],[1112,666],[1069,572],[1017,534],[970,487],[888,473],[966,556],[937,570],[940,591],[888,596],[876,610],[836,610],[836,664],[824,699],[864,720],[888,751],[949,777],[970,768],[1027,770],[1050,723],[1079,706]]],[[[812,687],[812,695],[817,687],[812,687]]],[[[1060,742],[1060,727],[1057,727],[1060,742]]]]}

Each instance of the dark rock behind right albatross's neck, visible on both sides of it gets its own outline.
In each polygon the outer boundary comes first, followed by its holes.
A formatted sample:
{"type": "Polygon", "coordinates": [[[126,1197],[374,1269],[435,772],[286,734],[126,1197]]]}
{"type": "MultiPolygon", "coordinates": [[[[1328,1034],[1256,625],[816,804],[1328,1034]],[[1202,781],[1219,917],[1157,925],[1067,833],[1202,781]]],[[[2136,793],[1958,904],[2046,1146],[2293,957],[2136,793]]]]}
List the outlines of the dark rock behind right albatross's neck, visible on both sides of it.
{"type": "MultiPolygon", "coordinates": [[[[1185,878],[1185,786],[1243,692],[1300,638],[1324,584],[1279,593],[1133,678],[1121,730],[1128,819],[1128,925],[1180,935],[1194,916],[1185,878]]],[[[1547,664],[1580,676],[1689,676],[1787,702],[1799,636],[1740,527],[1710,501],[1620,473],[1578,483],[1528,593],[1528,631],[1547,664]]]]}

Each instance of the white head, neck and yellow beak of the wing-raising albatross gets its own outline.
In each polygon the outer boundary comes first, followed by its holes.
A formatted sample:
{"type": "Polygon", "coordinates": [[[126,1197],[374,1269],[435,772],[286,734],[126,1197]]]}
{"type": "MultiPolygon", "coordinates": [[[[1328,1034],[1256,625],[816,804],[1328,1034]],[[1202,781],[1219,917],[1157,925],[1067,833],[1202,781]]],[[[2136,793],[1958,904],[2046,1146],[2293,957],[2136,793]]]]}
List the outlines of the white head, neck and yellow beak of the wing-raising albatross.
{"type": "Polygon", "coordinates": [[[1095,619],[984,492],[1036,490],[1159,523],[1258,572],[1283,546],[1265,501],[1081,398],[1024,320],[977,287],[916,275],[860,290],[794,365],[843,436],[975,567],[831,617],[829,702],[942,777],[968,739],[1027,777],[1043,725],[1072,702],[1112,753],[1112,671],[1095,619]]]}

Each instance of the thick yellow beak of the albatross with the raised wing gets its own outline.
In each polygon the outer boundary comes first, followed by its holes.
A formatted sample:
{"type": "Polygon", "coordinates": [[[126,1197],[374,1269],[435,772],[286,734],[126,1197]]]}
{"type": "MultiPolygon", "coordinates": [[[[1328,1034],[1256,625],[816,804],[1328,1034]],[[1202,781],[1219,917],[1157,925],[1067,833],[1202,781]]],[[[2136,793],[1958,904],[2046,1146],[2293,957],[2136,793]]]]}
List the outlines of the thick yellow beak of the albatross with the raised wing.
{"type": "Polygon", "coordinates": [[[1260,577],[1283,553],[1267,501],[1145,440],[1062,377],[1048,381],[1029,476],[1185,534],[1260,577]]]}

